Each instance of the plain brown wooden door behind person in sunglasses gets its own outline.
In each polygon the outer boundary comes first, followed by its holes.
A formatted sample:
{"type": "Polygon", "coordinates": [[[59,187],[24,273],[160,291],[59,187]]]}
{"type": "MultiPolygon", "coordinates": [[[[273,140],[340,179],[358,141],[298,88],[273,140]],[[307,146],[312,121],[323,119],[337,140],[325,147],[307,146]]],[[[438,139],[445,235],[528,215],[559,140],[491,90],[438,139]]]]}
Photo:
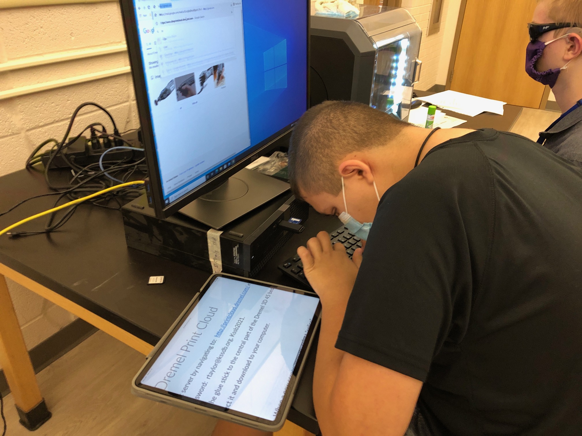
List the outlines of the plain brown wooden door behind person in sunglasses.
{"type": "Polygon", "coordinates": [[[527,23],[531,22],[536,0],[464,3],[458,48],[449,76],[450,89],[511,105],[540,108],[549,88],[546,90],[525,71],[527,23]]]}

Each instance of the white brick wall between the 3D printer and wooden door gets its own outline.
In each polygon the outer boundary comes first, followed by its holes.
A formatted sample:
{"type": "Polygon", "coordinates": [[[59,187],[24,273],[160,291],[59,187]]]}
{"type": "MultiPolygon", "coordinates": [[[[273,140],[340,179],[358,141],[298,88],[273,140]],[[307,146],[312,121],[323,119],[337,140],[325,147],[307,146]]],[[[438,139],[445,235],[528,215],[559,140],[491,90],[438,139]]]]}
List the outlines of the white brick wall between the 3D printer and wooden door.
{"type": "Polygon", "coordinates": [[[423,39],[420,43],[420,54],[418,58],[423,61],[423,70],[420,82],[416,84],[416,89],[426,91],[435,84],[444,85],[442,69],[448,69],[450,60],[450,47],[443,45],[445,34],[452,28],[455,33],[456,17],[459,15],[459,4],[456,0],[444,0],[441,16],[441,30],[438,33],[427,36],[428,20],[430,17],[432,0],[402,0],[402,7],[416,19],[418,26],[423,30],[423,39]],[[456,8],[449,13],[449,8],[456,8]],[[454,17],[455,19],[451,19],[454,17]],[[444,48],[444,50],[443,50],[444,48]]]}

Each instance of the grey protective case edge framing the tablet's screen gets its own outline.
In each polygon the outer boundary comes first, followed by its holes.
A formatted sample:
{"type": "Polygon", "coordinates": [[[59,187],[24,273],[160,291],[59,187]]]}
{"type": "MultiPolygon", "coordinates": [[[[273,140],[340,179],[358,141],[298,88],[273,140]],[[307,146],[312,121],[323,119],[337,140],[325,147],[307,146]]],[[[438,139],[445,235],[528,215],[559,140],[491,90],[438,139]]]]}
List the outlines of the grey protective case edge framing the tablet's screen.
{"type": "MultiPolygon", "coordinates": [[[[232,274],[223,274],[223,273],[222,274],[212,274],[212,276],[208,277],[208,280],[204,283],[202,289],[207,287],[208,283],[210,282],[210,280],[214,276],[233,277],[233,278],[236,278],[237,280],[240,280],[240,278],[241,278],[239,276],[233,276],[232,274]]],[[[249,280],[249,281],[251,281],[253,283],[257,283],[257,284],[267,285],[267,286],[271,286],[271,285],[275,285],[275,286],[279,286],[279,287],[281,286],[281,285],[276,285],[274,283],[267,283],[265,281],[260,281],[260,280],[249,280]]],[[[306,292],[307,294],[311,293],[308,291],[299,290],[296,288],[290,288],[290,287],[286,287],[286,286],[285,286],[285,288],[290,289],[290,290],[306,292]]],[[[281,428],[285,424],[285,420],[287,419],[287,415],[289,413],[289,409],[291,408],[291,404],[293,403],[293,397],[295,395],[297,385],[299,384],[299,379],[301,378],[301,373],[303,372],[303,367],[305,366],[305,362],[307,360],[307,355],[311,349],[311,345],[313,344],[315,332],[317,332],[317,328],[319,327],[319,324],[321,321],[321,312],[320,312],[320,316],[318,316],[317,319],[315,320],[315,327],[313,329],[313,334],[311,334],[311,337],[308,339],[306,352],[303,356],[303,360],[301,360],[301,363],[299,365],[299,369],[297,370],[297,376],[292,375],[291,380],[289,381],[289,385],[291,385],[291,389],[288,392],[288,394],[286,395],[286,397],[283,398],[283,402],[281,403],[281,409],[283,410],[283,413],[281,414],[280,419],[278,421],[275,421],[273,424],[270,424],[270,425],[264,424],[264,423],[260,423],[258,421],[253,421],[253,420],[246,419],[246,418],[243,418],[240,416],[236,416],[236,415],[233,415],[230,413],[221,412],[220,410],[206,408],[205,406],[197,405],[197,404],[191,403],[189,401],[185,401],[183,399],[173,398],[172,396],[168,396],[168,395],[164,395],[164,394],[158,394],[158,392],[153,392],[153,391],[150,391],[148,389],[141,388],[137,385],[137,378],[140,376],[141,371],[144,370],[145,366],[150,361],[152,356],[154,356],[155,353],[157,353],[158,349],[162,346],[162,344],[164,344],[164,342],[169,337],[169,335],[172,333],[172,331],[176,328],[176,326],[178,326],[178,324],[182,320],[182,318],[184,316],[186,316],[186,313],[191,308],[191,306],[193,306],[198,301],[199,297],[200,297],[200,291],[197,292],[196,295],[194,295],[194,298],[191,299],[190,303],[188,303],[186,308],[182,311],[182,313],[180,313],[180,316],[174,321],[174,323],[168,329],[168,331],[166,331],[164,336],[161,339],[159,339],[158,343],[155,345],[154,349],[152,349],[150,354],[147,355],[147,357],[145,358],[145,363],[143,364],[143,366],[141,366],[141,368],[137,372],[136,376],[133,377],[132,394],[136,395],[136,396],[140,396],[141,398],[157,401],[159,403],[164,403],[164,404],[169,404],[171,406],[176,406],[180,409],[191,410],[192,412],[197,412],[197,413],[202,413],[202,414],[206,414],[209,416],[214,416],[215,418],[223,419],[225,421],[230,421],[230,422],[233,422],[236,424],[240,424],[242,426],[257,428],[258,430],[262,430],[262,431],[281,430],[281,428]]]]}

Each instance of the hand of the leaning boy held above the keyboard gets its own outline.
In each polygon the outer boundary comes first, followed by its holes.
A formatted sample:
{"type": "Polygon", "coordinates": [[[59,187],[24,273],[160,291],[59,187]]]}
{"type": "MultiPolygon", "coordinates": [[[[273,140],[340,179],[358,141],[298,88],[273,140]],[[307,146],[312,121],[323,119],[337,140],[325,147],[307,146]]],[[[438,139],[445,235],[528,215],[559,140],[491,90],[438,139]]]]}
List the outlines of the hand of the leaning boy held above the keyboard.
{"type": "Polygon", "coordinates": [[[329,234],[322,231],[300,246],[297,254],[303,262],[303,271],[309,284],[321,298],[322,305],[345,304],[361,263],[362,250],[354,252],[354,261],[342,244],[332,245],[329,234]]]}

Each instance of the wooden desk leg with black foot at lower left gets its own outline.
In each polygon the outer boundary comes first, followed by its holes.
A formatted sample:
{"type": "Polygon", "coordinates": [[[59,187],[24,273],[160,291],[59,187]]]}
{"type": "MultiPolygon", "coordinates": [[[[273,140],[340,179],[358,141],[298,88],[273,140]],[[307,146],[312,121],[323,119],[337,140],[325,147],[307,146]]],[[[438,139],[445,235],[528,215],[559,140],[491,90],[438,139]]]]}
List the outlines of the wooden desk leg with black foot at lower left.
{"type": "Polygon", "coordinates": [[[8,286],[2,274],[0,274],[0,365],[14,397],[20,424],[28,430],[36,430],[48,421],[51,412],[48,411],[38,388],[29,352],[26,350],[8,286]]]}

